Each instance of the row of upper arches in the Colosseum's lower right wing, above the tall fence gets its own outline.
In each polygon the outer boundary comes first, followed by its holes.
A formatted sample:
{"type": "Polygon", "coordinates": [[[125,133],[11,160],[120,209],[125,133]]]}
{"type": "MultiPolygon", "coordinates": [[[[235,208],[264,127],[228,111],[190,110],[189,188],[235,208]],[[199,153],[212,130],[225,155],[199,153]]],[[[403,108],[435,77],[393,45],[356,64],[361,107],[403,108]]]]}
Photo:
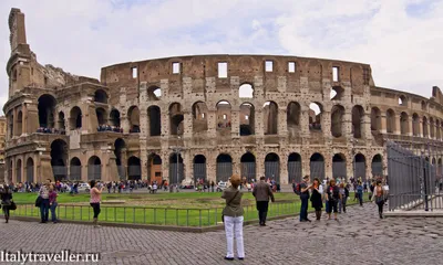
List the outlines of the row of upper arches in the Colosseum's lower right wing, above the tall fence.
{"type": "MultiPolygon", "coordinates": [[[[394,134],[400,130],[401,135],[412,135],[416,137],[431,137],[442,139],[442,121],[437,118],[422,116],[413,113],[401,112],[398,116],[395,112],[389,108],[385,113],[387,132],[394,134]],[[396,123],[396,119],[400,119],[396,123]],[[398,124],[400,128],[398,128],[398,124]]],[[[371,130],[380,131],[382,128],[382,114],[378,107],[371,109],[371,130]]]]}

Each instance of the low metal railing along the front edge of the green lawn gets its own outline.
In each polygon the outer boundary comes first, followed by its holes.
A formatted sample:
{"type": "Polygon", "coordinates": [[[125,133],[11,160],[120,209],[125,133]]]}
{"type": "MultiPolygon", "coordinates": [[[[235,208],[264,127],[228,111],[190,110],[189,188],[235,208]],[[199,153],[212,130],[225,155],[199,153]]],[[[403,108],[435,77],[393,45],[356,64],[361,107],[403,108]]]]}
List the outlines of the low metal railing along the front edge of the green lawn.
{"type": "MultiPolygon", "coordinates": [[[[12,216],[39,218],[40,209],[32,204],[18,204],[12,216]]],[[[244,206],[245,221],[258,220],[256,205],[244,206]]],[[[101,206],[100,221],[122,224],[152,224],[172,226],[213,226],[220,225],[223,208],[176,209],[176,208],[141,208],[141,206],[101,206]]],[[[268,218],[293,215],[300,211],[297,202],[270,203],[268,218]]],[[[56,216],[61,221],[92,221],[94,213],[90,205],[63,205],[56,208],[56,216]]]]}

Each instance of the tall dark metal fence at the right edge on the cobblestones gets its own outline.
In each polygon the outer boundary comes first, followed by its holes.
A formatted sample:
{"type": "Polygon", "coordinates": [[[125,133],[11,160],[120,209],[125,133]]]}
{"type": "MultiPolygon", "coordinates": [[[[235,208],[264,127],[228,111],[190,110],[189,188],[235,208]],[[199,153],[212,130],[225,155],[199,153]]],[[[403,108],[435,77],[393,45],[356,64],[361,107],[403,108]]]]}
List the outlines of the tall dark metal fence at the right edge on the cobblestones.
{"type": "MultiPolygon", "coordinates": [[[[411,145],[412,146],[412,145],[411,145]]],[[[443,209],[436,168],[429,161],[434,148],[408,149],[388,142],[389,210],[443,209]]]]}

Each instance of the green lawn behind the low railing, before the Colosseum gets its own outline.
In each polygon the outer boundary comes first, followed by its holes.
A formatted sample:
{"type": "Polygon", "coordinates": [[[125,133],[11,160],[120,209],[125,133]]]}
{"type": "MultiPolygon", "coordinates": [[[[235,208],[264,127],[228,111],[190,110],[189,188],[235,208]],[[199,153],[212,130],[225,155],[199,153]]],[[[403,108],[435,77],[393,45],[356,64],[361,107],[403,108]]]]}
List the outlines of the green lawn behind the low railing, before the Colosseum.
{"type": "MultiPolygon", "coordinates": [[[[101,222],[157,224],[176,226],[209,226],[219,224],[224,200],[222,193],[159,193],[159,194],[104,194],[103,200],[126,200],[124,205],[102,204],[101,222]]],[[[17,216],[39,218],[40,209],[33,205],[37,194],[16,193],[17,216]]],[[[293,193],[276,193],[276,203],[270,203],[268,218],[291,215],[300,211],[299,198],[293,193]]],[[[245,221],[257,220],[251,193],[244,194],[245,221]]],[[[353,198],[353,195],[351,195],[353,198]]],[[[91,221],[92,209],[89,194],[60,194],[58,216],[60,220],[91,221]]],[[[351,199],[348,204],[354,204],[351,199]]],[[[309,203],[310,204],[310,203],[309,203]]],[[[310,206],[310,205],[309,205],[310,206]]],[[[312,209],[309,208],[309,211],[312,209]]]]}

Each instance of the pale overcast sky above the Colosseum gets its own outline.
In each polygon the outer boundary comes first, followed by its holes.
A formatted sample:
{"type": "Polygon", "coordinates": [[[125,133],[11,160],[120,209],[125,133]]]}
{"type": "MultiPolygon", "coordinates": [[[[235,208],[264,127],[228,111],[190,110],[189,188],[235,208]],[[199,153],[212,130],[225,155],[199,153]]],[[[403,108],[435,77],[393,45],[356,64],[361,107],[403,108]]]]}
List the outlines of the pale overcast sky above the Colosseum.
{"type": "Polygon", "coordinates": [[[152,57],[281,54],[369,63],[375,85],[426,97],[443,88],[443,0],[1,0],[1,108],[12,7],[39,62],[78,75],[152,57]]]}

